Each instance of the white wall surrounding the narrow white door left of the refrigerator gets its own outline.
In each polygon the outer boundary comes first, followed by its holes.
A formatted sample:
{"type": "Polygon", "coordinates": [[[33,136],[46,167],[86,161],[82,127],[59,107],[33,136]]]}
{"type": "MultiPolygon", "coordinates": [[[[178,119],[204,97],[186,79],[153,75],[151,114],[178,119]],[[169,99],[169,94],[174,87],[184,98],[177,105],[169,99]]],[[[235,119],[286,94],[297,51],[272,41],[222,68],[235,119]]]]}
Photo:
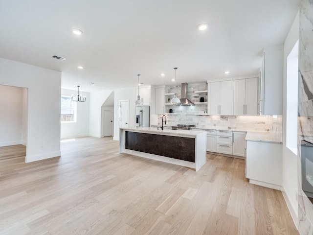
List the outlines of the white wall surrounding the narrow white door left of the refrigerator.
{"type": "Polygon", "coordinates": [[[129,100],[129,126],[135,126],[135,88],[114,90],[114,135],[119,140],[119,101],[129,100]]]}

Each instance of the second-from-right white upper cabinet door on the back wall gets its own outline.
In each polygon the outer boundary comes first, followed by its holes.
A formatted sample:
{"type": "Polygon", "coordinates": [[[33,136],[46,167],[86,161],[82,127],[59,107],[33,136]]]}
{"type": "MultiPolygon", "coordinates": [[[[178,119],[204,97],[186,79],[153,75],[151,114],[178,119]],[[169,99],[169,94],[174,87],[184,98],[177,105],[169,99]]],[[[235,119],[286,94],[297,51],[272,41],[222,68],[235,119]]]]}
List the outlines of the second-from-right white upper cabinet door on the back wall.
{"type": "Polygon", "coordinates": [[[234,80],[234,115],[245,114],[246,79],[234,80]]]}

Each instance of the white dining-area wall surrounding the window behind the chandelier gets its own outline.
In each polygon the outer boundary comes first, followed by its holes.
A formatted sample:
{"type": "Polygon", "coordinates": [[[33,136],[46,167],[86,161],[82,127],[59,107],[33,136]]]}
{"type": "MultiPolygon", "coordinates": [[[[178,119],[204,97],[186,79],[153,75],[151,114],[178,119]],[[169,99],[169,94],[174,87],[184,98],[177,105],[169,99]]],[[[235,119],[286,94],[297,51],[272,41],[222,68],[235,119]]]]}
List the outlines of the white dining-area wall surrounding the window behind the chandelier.
{"type": "MultiPolygon", "coordinates": [[[[62,95],[77,95],[77,90],[61,90],[62,95]]],[[[86,95],[85,102],[77,102],[76,122],[61,122],[61,139],[83,137],[89,135],[89,104],[90,95],[87,92],[79,92],[80,95],[86,95]]]]}

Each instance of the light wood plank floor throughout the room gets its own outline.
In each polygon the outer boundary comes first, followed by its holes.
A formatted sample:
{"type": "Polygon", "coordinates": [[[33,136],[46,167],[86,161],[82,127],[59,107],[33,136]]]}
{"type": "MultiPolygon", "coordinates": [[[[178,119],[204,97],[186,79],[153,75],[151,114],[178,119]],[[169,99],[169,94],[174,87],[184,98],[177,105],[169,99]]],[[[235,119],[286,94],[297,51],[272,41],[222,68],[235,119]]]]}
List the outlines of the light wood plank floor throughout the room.
{"type": "Polygon", "coordinates": [[[208,154],[195,172],[119,154],[112,138],[61,150],[25,164],[25,148],[0,148],[1,235],[298,234],[282,193],[249,184],[244,160],[208,154]]]}

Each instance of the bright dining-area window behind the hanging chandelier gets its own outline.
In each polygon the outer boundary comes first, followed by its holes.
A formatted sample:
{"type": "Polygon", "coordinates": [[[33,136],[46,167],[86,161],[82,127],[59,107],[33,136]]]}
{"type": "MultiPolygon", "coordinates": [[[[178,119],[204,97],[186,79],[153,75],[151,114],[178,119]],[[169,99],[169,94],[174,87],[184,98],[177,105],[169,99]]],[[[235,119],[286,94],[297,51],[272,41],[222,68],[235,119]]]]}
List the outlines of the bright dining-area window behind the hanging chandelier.
{"type": "Polygon", "coordinates": [[[76,102],[70,96],[61,96],[61,122],[76,122],[76,102]]]}

